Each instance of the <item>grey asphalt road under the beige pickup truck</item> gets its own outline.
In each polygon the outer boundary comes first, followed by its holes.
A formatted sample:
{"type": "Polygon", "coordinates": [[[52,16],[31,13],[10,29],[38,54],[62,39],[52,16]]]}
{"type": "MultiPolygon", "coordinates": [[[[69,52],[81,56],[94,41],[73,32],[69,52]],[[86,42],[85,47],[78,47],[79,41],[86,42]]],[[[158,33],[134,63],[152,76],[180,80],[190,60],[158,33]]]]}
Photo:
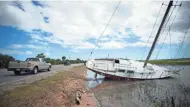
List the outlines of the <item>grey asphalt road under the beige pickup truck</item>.
{"type": "Polygon", "coordinates": [[[37,74],[31,74],[29,72],[22,72],[21,75],[15,75],[13,71],[7,71],[6,69],[0,69],[0,87],[4,85],[17,85],[23,83],[32,83],[40,79],[44,79],[48,76],[52,76],[59,71],[68,70],[75,66],[82,64],[72,64],[69,66],[64,65],[52,65],[51,71],[39,71],[37,74]]]}

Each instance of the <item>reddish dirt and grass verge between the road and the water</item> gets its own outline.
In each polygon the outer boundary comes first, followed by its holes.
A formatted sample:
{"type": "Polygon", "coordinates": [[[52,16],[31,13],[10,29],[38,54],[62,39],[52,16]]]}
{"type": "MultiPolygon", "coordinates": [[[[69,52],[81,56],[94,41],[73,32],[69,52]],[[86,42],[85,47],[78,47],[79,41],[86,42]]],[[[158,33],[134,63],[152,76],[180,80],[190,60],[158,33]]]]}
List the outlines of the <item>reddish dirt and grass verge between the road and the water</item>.
{"type": "Polygon", "coordinates": [[[1,107],[97,107],[86,88],[86,68],[79,66],[44,80],[9,90],[0,96],[1,107]],[[76,104],[80,92],[81,104],[76,104]]]}

